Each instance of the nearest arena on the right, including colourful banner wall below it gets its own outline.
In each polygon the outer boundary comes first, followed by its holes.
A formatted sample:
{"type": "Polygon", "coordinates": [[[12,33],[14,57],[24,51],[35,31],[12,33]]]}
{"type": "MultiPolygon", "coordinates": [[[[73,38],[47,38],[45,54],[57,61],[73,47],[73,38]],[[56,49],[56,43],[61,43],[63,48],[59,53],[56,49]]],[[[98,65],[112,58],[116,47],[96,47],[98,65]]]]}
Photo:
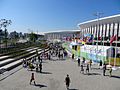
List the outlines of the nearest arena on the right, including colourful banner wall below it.
{"type": "Polygon", "coordinates": [[[120,14],[79,23],[78,27],[83,40],[93,36],[92,42],[80,47],[81,57],[120,65],[120,14]]]}

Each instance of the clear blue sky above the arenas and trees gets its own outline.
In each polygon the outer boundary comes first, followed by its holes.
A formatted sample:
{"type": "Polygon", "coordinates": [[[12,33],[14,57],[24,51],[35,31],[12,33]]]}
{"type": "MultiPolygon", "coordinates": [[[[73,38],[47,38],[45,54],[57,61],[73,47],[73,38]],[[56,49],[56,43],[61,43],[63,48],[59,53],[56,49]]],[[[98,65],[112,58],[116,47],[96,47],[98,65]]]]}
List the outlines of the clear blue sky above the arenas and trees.
{"type": "Polygon", "coordinates": [[[120,0],[0,0],[0,19],[12,21],[8,32],[74,30],[96,12],[120,14],[120,0]]]}

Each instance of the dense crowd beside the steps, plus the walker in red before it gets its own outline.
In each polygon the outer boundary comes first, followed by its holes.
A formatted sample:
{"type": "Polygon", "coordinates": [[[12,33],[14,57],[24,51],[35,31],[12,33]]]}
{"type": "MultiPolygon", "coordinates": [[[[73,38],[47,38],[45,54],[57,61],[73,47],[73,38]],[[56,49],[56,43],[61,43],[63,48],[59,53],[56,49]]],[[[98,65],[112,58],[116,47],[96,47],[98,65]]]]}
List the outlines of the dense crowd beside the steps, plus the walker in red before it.
{"type": "MultiPolygon", "coordinates": [[[[36,50],[36,54],[37,56],[34,56],[29,60],[24,58],[23,67],[27,68],[27,70],[35,70],[36,72],[40,73],[42,73],[43,59],[52,60],[52,57],[57,57],[57,60],[65,60],[67,57],[67,51],[59,45],[52,45],[52,47],[50,47],[48,51],[44,50],[44,52],[42,52],[40,55],[38,55],[38,52],[36,50]]],[[[34,73],[31,74],[30,84],[32,82],[34,82],[34,85],[36,85],[34,73]]]]}

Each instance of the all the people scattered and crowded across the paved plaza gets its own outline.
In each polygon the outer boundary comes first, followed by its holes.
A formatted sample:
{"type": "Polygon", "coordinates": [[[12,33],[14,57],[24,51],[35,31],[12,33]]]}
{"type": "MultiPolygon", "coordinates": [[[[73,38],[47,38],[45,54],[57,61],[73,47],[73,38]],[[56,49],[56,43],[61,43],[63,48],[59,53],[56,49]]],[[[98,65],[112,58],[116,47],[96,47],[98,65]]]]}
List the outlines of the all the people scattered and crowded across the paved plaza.
{"type": "MultiPolygon", "coordinates": [[[[26,60],[23,59],[23,67],[28,68],[28,70],[33,70],[35,69],[36,72],[40,72],[42,73],[42,62],[43,62],[43,58],[47,58],[47,60],[52,60],[53,57],[57,57],[57,60],[61,60],[64,59],[66,60],[68,56],[67,51],[62,47],[62,46],[58,46],[58,45],[52,45],[52,47],[50,47],[49,51],[47,52],[43,52],[40,55],[33,57],[31,60],[26,60]]],[[[72,60],[75,59],[74,54],[72,54],[72,60]]],[[[80,67],[80,73],[82,74],[90,74],[90,70],[92,70],[92,60],[85,60],[85,58],[78,58],[77,60],[78,62],[78,67],[80,67]]],[[[103,76],[105,76],[106,73],[106,64],[103,63],[101,60],[99,62],[99,69],[103,70],[103,76]]],[[[110,77],[112,76],[112,67],[109,68],[109,73],[110,73],[110,77]]],[[[35,82],[35,76],[34,73],[31,74],[31,79],[30,79],[30,84],[34,82],[34,85],[36,85],[35,82]]],[[[66,84],[66,88],[69,89],[69,85],[70,85],[70,77],[67,74],[67,76],[65,77],[65,84],[66,84]]]]}

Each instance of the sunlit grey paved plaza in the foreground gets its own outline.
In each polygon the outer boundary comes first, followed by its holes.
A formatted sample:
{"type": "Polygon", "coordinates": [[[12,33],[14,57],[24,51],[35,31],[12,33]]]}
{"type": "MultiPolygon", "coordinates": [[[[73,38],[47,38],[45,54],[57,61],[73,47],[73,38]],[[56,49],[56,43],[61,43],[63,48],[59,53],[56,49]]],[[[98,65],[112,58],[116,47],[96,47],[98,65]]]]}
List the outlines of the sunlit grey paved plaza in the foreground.
{"type": "Polygon", "coordinates": [[[120,70],[113,71],[114,77],[109,77],[102,76],[102,70],[96,65],[93,68],[90,75],[83,75],[77,62],[71,59],[45,60],[42,74],[22,68],[0,81],[0,90],[66,90],[64,79],[67,74],[71,79],[70,90],[120,90],[120,70]],[[36,86],[29,84],[32,72],[36,86]]]}

